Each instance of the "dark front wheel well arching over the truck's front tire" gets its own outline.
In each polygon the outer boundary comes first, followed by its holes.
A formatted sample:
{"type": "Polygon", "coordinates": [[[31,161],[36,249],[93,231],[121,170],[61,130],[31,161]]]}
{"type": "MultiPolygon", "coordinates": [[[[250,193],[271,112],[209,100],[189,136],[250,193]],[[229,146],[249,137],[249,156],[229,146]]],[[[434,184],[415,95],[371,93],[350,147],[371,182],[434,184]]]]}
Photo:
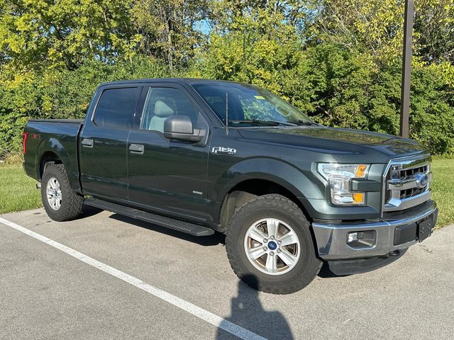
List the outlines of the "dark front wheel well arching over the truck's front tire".
{"type": "Polygon", "coordinates": [[[304,209],[303,205],[294,194],[287,188],[264,179],[249,179],[234,186],[223,199],[221,206],[221,218],[219,219],[221,230],[225,231],[228,227],[228,222],[231,220],[233,214],[245,203],[250,202],[258,196],[267,195],[270,193],[277,193],[292,200],[306,218],[309,220],[309,215],[304,209]]]}

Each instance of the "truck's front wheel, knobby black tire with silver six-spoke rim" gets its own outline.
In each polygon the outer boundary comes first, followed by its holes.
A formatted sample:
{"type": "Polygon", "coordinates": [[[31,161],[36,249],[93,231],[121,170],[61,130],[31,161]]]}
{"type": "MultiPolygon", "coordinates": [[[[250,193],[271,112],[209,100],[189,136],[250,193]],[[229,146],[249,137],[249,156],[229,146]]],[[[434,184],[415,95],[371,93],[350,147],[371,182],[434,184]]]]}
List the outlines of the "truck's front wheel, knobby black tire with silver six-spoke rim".
{"type": "Polygon", "coordinates": [[[303,212],[276,194],[260,196],[238,209],[228,225],[226,250],[238,278],[265,293],[297,292],[314,280],[323,264],[316,257],[303,212]]]}

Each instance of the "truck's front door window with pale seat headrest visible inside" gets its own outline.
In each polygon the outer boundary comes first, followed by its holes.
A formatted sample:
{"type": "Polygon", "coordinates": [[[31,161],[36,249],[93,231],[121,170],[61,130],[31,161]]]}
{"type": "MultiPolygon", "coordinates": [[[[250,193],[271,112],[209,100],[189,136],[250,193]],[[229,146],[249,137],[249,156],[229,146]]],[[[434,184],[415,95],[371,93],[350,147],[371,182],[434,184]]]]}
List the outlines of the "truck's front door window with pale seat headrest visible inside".
{"type": "Polygon", "coordinates": [[[172,115],[186,115],[194,128],[199,128],[203,117],[192,101],[179,89],[150,87],[143,106],[141,130],[164,132],[164,122],[172,115]]]}

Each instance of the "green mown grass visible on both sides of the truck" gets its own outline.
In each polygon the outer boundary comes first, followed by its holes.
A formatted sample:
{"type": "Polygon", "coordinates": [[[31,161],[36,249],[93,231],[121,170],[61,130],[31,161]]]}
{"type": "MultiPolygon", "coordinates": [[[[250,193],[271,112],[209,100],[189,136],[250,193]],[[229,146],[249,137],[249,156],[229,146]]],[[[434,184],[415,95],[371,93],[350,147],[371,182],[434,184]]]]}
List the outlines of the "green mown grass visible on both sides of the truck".
{"type": "MultiPolygon", "coordinates": [[[[454,159],[433,159],[433,199],[440,214],[437,227],[454,223],[454,159]]],[[[42,206],[36,181],[26,176],[21,165],[0,164],[0,214],[42,206]]]]}

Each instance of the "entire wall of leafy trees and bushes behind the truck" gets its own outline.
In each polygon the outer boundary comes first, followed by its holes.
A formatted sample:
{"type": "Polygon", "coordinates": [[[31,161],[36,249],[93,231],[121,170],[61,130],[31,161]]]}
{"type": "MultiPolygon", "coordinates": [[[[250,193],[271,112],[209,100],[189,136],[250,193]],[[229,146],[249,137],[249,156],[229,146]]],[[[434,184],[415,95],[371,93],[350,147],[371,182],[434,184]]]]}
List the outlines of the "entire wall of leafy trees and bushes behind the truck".
{"type": "MultiPolygon", "coordinates": [[[[97,84],[244,81],[331,126],[397,134],[403,0],[0,0],[0,157],[97,84]]],[[[454,153],[454,0],[416,1],[411,137],[454,153]]]]}

